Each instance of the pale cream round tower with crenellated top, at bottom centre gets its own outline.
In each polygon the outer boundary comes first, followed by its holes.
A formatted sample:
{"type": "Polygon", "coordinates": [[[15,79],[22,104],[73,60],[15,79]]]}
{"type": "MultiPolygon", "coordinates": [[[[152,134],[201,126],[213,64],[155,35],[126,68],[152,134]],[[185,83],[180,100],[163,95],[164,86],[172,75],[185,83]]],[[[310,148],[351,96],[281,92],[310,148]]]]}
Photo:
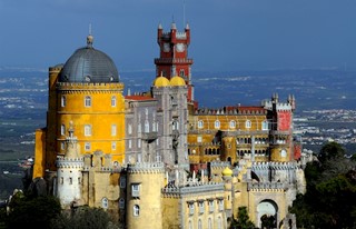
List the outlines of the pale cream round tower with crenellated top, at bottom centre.
{"type": "Polygon", "coordinates": [[[137,163],[127,168],[128,229],[162,228],[161,189],[165,186],[164,163],[137,163]]]}

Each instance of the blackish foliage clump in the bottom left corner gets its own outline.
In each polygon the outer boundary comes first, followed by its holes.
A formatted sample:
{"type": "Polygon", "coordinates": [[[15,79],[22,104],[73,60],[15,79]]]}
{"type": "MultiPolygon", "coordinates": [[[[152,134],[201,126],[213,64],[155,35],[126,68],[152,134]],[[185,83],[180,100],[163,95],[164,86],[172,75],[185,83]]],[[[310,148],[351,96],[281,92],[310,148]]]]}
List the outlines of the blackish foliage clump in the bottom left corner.
{"type": "MultiPolygon", "coordinates": [[[[18,192],[19,193],[19,192],[18,192]]],[[[59,200],[52,196],[13,196],[7,218],[8,228],[50,228],[50,221],[61,212],[59,200]]]]}

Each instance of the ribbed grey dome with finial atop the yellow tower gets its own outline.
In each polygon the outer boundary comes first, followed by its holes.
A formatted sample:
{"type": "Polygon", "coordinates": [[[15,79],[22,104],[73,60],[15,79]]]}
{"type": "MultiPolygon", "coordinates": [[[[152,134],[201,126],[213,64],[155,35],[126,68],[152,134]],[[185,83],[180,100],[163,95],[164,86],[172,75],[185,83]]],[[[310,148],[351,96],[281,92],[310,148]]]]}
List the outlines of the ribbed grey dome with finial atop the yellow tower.
{"type": "Polygon", "coordinates": [[[118,70],[111,58],[92,48],[92,38],[88,46],[77,49],[67,60],[61,71],[60,82],[119,82],[118,70]]]}

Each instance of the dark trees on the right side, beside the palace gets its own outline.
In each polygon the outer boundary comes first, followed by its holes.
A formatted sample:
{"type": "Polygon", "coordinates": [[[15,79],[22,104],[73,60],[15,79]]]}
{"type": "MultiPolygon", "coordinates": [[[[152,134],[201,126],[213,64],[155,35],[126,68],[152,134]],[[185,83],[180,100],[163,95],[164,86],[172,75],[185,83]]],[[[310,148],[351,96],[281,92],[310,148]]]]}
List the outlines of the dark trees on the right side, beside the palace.
{"type": "Polygon", "coordinates": [[[299,228],[356,228],[355,161],[335,142],[323,147],[320,162],[305,169],[307,192],[290,208],[299,228]]]}

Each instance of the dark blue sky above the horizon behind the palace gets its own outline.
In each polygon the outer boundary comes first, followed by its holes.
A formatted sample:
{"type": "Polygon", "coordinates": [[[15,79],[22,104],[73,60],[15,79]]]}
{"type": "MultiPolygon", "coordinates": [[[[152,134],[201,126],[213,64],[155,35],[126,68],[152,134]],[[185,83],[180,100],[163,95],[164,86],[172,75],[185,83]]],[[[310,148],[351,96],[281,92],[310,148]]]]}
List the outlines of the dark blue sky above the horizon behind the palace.
{"type": "Polygon", "coordinates": [[[194,71],[356,70],[355,0],[0,0],[0,68],[65,63],[91,24],[119,72],[154,70],[171,22],[194,71]]]}

